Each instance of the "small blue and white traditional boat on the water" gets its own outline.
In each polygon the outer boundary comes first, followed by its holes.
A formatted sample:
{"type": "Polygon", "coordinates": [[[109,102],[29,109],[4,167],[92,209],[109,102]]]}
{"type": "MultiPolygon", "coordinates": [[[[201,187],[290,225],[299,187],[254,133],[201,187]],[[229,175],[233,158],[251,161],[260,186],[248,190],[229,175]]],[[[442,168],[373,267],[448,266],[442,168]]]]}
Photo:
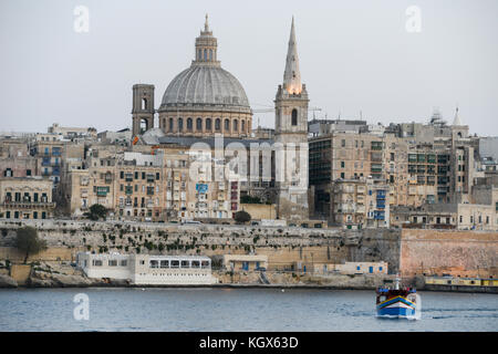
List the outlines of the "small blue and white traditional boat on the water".
{"type": "Polygon", "coordinates": [[[381,287],[377,293],[377,315],[395,319],[415,319],[419,298],[414,288],[400,287],[396,277],[394,289],[381,287]]]}

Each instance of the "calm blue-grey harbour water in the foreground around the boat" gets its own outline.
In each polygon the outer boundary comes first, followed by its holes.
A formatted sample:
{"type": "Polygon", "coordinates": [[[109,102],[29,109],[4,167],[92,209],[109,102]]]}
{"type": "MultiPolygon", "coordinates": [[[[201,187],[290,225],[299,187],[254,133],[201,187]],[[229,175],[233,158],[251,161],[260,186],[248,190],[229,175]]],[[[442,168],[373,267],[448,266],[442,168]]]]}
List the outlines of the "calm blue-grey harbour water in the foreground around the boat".
{"type": "Polygon", "coordinates": [[[497,331],[498,295],[421,292],[422,319],[375,317],[373,291],[0,290],[0,331],[497,331]],[[73,296],[86,293],[90,320],[73,296]]]}

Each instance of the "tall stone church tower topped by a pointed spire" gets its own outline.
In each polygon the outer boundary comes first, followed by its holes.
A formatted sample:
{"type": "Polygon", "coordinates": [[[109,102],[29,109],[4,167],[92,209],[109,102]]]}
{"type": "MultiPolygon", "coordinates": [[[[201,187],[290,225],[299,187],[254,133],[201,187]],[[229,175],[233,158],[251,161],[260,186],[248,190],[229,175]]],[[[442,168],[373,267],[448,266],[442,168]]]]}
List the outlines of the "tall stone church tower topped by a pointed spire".
{"type": "Polygon", "coordinates": [[[283,84],[279,85],[274,100],[276,186],[279,194],[278,217],[281,219],[303,220],[309,218],[309,102],[307,87],[301,83],[294,19],[292,18],[283,84]],[[282,157],[279,158],[279,156],[284,156],[284,160],[282,162],[282,157]]]}

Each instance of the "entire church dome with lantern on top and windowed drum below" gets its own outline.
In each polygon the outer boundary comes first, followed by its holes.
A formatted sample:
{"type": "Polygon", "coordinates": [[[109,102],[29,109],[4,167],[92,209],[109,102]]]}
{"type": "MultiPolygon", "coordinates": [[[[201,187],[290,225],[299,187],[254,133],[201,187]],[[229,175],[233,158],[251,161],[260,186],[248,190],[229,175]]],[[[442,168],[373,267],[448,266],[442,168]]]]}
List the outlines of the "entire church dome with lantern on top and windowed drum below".
{"type": "Polygon", "coordinates": [[[249,137],[252,111],[240,82],[221,67],[218,40],[209,29],[196,38],[190,67],[173,79],[159,108],[159,127],[168,136],[249,137]]]}

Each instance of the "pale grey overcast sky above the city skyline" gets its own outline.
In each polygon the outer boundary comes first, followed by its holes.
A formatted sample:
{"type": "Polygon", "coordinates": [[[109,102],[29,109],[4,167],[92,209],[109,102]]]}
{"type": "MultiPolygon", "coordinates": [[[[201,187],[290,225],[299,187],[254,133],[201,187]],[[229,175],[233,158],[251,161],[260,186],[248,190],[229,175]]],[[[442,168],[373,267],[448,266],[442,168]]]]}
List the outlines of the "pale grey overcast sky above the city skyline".
{"type": "Polygon", "coordinates": [[[471,134],[498,135],[496,0],[0,0],[0,132],[131,126],[132,86],[154,84],[158,108],[206,13],[253,110],[273,107],[293,15],[317,118],[426,123],[438,107],[452,123],[458,106],[471,134]]]}

